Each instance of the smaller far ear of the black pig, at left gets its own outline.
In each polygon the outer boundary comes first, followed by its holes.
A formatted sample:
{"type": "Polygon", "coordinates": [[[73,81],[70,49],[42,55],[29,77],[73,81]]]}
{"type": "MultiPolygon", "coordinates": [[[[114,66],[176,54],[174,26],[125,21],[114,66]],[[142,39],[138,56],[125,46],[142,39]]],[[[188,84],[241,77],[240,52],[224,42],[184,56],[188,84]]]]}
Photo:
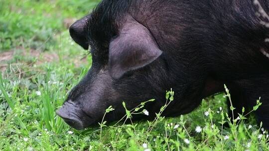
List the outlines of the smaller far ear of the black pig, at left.
{"type": "Polygon", "coordinates": [[[87,19],[88,16],[77,20],[73,23],[70,28],[69,32],[73,40],[83,47],[85,50],[89,49],[89,42],[87,40],[87,19]]]}

